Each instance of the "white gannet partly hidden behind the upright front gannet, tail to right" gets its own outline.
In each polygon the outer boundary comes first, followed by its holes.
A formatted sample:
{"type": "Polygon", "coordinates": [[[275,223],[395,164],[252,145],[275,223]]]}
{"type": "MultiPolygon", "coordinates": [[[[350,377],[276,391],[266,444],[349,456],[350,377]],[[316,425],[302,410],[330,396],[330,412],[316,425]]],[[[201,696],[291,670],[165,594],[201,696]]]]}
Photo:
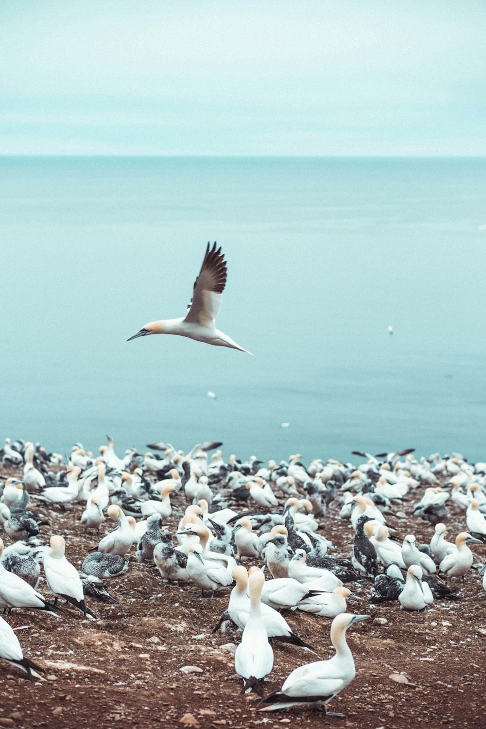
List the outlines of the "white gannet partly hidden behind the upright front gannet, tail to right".
{"type": "MultiPolygon", "coordinates": [[[[233,623],[244,628],[248,620],[250,610],[250,599],[248,598],[248,573],[242,565],[233,570],[233,577],[236,585],[231,590],[228,612],[233,623]]],[[[297,636],[285,618],[272,607],[261,605],[262,620],[267,631],[267,636],[283,643],[291,643],[305,650],[313,650],[302,639],[297,636]]]]}

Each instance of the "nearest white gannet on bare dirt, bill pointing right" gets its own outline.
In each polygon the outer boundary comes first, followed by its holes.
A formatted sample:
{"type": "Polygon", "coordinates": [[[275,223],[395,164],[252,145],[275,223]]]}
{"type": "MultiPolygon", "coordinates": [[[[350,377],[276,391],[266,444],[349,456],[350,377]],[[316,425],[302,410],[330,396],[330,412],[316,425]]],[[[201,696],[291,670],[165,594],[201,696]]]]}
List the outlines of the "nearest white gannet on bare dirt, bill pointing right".
{"type": "Polygon", "coordinates": [[[348,615],[342,613],[331,623],[331,642],[336,650],[329,660],[317,660],[299,666],[291,672],[280,691],[275,691],[258,703],[262,711],[286,709],[289,706],[320,706],[329,716],[342,717],[343,714],[326,712],[326,704],[331,701],[356,676],[353,654],[346,643],[346,630],[358,620],[367,620],[369,615],[348,615]],[[269,706],[264,706],[264,704],[269,706]]]}

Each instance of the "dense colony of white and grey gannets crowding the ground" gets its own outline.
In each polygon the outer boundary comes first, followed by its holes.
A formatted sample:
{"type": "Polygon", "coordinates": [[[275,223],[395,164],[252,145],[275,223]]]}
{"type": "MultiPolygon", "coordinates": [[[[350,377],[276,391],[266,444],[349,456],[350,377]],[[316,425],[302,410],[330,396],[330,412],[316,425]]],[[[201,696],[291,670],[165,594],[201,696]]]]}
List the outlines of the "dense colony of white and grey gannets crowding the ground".
{"type": "MultiPolygon", "coordinates": [[[[484,597],[486,463],[469,464],[460,454],[417,459],[411,449],[355,451],[353,463],[306,465],[299,454],[280,463],[225,461],[221,445],[184,453],[154,443],[144,456],[130,448],[119,457],[109,438],[97,453],[77,443],[67,457],[5,439],[2,681],[23,671],[42,692],[52,673],[52,662],[42,652],[27,655],[22,631],[12,630],[17,613],[29,626],[55,630],[81,621],[89,631],[117,602],[111,585],[128,590],[134,572],[153,571],[157,595],[141,596],[152,616],[158,601],[170,601],[176,619],[180,590],[195,604],[224,601],[197,637],[200,650],[216,640],[234,653],[227,674],[239,677],[235,701],[251,698],[256,716],[309,706],[339,716],[327,705],[356,676],[347,631],[357,635],[378,604],[387,608],[378,625],[401,610],[415,623],[434,610],[440,625],[466,585],[484,597]],[[450,526],[452,518],[460,526],[450,526]],[[428,535],[423,543],[414,523],[428,535]],[[331,531],[342,537],[339,549],[331,531]],[[308,623],[302,634],[303,615],[313,620],[311,639],[308,623]],[[277,685],[273,672],[289,651],[299,665],[277,685]]],[[[406,634],[403,642],[407,648],[406,634]]],[[[167,682],[167,654],[153,660],[167,682]]],[[[351,696],[345,692],[339,706],[353,707],[351,696]]]]}

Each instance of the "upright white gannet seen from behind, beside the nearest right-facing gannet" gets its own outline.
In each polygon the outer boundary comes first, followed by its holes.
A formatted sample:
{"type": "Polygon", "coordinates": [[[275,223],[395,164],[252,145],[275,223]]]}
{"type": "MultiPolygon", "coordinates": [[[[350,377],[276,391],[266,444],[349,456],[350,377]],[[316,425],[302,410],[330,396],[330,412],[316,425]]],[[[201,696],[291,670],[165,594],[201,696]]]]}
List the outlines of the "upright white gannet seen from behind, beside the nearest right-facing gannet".
{"type": "Polygon", "coordinates": [[[253,690],[262,696],[260,679],[273,668],[273,650],[262,620],[260,596],[265,578],[259,570],[248,579],[250,609],[241,642],[235,652],[235,671],[243,679],[241,693],[253,690]]]}

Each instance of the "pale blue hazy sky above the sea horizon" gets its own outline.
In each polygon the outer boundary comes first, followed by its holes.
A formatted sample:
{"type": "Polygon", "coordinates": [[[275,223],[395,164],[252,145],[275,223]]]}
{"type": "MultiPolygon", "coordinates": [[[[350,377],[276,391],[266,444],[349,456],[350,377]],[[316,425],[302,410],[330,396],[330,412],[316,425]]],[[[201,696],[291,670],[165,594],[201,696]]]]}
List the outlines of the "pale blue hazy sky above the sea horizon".
{"type": "Polygon", "coordinates": [[[482,0],[2,0],[0,152],[486,155],[482,0]]]}

